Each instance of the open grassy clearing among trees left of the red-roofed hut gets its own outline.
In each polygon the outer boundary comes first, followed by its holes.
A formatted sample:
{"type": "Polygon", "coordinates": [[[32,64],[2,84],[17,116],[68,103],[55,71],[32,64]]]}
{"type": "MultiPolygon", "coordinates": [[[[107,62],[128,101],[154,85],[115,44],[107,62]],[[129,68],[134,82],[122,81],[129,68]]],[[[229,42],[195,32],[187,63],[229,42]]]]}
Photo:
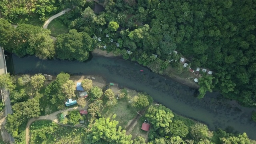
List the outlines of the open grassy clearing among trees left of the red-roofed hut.
{"type": "Polygon", "coordinates": [[[118,126],[122,126],[122,128],[125,128],[128,122],[137,115],[136,110],[129,106],[125,99],[118,100],[117,105],[112,108],[104,106],[100,112],[105,118],[111,118],[116,114],[115,120],[118,121],[118,126]]]}

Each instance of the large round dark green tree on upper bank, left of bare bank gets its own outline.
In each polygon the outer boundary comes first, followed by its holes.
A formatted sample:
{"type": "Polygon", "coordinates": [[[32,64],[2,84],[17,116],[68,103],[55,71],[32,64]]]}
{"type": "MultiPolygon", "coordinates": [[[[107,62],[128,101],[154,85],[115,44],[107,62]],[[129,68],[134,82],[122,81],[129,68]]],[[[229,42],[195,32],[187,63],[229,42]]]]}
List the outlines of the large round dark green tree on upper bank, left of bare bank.
{"type": "Polygon", "coordinates": [[[91,50],[92,38],[87,33],[73,29],[68,34],[57,36],[56,54],[61,60],[85,61],[91,50]]]}

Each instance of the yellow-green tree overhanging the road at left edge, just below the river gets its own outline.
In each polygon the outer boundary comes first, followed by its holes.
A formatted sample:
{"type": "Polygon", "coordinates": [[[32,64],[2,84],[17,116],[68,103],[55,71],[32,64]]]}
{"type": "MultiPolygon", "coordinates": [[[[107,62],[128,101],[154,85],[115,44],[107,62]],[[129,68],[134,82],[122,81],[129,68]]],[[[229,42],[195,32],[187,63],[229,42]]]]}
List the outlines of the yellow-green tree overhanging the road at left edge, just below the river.
{"type": "Polygon", "coordinates": [[[0,74],[0,88],[6,88],[7,90],[15,88],[14,78],[9,73],[0,74]]]}

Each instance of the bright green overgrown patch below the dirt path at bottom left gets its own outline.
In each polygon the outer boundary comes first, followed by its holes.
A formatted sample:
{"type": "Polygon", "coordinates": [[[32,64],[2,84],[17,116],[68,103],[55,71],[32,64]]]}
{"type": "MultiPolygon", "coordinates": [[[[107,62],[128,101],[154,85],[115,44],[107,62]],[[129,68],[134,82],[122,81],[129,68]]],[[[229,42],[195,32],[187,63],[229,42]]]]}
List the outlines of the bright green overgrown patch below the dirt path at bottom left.
{"type": "Polygon", "coordinates": [[[31,144],[82,144],[84,128],[60,126],[50,120],[35,121],[30,126],[31,144]]]}

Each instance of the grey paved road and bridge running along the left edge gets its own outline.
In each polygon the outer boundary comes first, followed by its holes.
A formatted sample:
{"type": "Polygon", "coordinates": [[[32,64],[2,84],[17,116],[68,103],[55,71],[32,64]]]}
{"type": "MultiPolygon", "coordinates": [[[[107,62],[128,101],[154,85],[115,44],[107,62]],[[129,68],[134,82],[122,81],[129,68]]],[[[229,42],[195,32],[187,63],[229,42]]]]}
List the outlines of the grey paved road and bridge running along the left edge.
{"type": "MultiPolygon", "coordinates": [[[[0,74],[7,74],[6,66],[5,66],[5,58],[4,58],[4,50],[0,47],[0,74]]],[[[9,98],[9,91],[5,88],[1,88],[2,96],[4,99],[5,105],[5,115],[12,114],[12,106],[9,98]]],[[[9,140],[14,142],[14,138],[9,134],[9,140]]]]}

